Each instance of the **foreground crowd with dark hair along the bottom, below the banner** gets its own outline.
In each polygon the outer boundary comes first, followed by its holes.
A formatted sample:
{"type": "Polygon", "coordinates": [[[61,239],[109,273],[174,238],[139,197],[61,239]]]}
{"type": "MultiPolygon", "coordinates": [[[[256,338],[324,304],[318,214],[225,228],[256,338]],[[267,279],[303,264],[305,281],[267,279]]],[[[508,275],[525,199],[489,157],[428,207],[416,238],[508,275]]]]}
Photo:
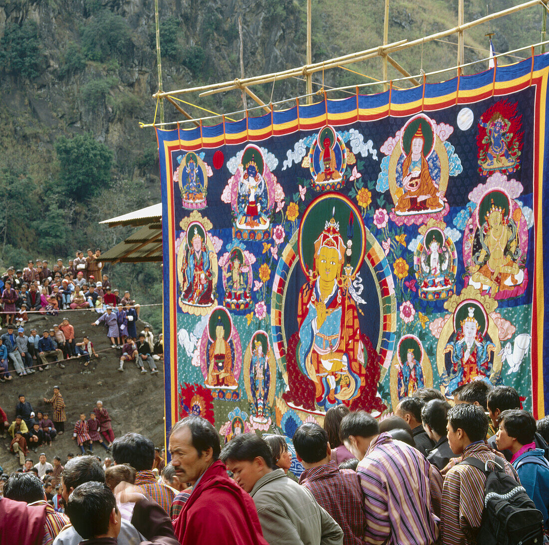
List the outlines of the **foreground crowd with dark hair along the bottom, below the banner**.
{"type": "MultiPolygon", "coordinates": [[[[81,414],[88,435],[91,420],[81,414]]],[[[291,440],[304,467],[296,481],[284,437],[243,433],[222,446],[214,426],[192,415],[173,425],[167,465],[136,433],[111,442],[114,465],[88,455],[94,439],[85,435],[83,455],[64,467],[60,460],[49,467],[43,453],[36,465],[25,461],[3,484],[0,519],[8,509],[32,514],[55,545],[457,545],[498,543],[511,532],[521,543],[542,543],[548,439],[549,417],[536,423],[512,387],[474,381],[455,392],[453,406],[422,388],[380,420],[337,406],[323,426],[300,425],[291,440]],[[48,510],[46,481],[59,477],[48,510]],[[489,492],[494,482],[500,493],[489,492]],[[36,493],[24,497],[31,488],[36,493]],[[53,513],[69,522],[56,536],[53,513]]]]}

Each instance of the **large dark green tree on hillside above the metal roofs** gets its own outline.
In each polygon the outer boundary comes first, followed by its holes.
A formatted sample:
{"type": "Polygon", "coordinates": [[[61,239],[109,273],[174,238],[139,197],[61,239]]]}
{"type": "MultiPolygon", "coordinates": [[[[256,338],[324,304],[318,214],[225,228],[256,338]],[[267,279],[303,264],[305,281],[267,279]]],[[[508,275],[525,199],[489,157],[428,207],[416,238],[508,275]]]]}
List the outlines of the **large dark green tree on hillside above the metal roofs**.
{"type": "Polygon", "coordinates": [[[111,181],[113,152],[91,134],[55,141],[59,161],[59,189],[77,201],[86,200],[111,181]]]}

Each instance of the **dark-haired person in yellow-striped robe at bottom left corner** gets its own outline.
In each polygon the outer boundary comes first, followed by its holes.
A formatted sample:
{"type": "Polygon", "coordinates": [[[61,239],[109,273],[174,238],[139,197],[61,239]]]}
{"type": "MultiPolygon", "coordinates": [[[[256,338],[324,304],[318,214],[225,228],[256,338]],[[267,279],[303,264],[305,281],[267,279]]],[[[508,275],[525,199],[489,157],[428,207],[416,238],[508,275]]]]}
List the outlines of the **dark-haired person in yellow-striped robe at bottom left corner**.
{"type": "MultiPolygon", "coordinates": [[[[49,485],[51,487],[51,485],[49,485]]],[[[61,529],[69,524],[68,516],[56,513],[55,509],[44,498],[45,487],[42,488],[40,479],[32,473],[12,473],[4,485],[4,497],[16,502],[24,502],[29,507],[37,509],[43,507],[46,510],[46,518],[43,524],[44,537],[42,545],[52,545],[61,529]]]]}

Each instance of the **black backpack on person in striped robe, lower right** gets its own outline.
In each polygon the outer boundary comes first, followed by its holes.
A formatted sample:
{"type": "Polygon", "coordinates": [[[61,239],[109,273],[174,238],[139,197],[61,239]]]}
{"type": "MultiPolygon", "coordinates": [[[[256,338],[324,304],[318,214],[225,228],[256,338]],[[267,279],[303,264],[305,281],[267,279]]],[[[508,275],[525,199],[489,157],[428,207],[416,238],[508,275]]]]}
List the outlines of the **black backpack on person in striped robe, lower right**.
{"type": "Polygon", "coordinates": [[[503,460],[484,463],[469,457],[460,464],[472,465],[486,475],[484,510],[477,535],[479,544],[541,545],[544,542],[543,516],[524,487],[505,473],[503,460]],[[489,465],[496,469],[489,469],[489,465]]]}

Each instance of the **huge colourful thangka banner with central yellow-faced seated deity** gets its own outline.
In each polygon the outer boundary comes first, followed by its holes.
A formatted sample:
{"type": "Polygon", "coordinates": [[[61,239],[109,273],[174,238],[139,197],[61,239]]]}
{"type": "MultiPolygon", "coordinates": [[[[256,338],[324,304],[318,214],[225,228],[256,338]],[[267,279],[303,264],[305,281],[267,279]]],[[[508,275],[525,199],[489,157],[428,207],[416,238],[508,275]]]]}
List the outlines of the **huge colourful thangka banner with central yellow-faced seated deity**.
{"type": "Polygon", "coordinates": [[[158,130],[167,428],[472,380],[544,415],[548,65],[158,130]]]}

